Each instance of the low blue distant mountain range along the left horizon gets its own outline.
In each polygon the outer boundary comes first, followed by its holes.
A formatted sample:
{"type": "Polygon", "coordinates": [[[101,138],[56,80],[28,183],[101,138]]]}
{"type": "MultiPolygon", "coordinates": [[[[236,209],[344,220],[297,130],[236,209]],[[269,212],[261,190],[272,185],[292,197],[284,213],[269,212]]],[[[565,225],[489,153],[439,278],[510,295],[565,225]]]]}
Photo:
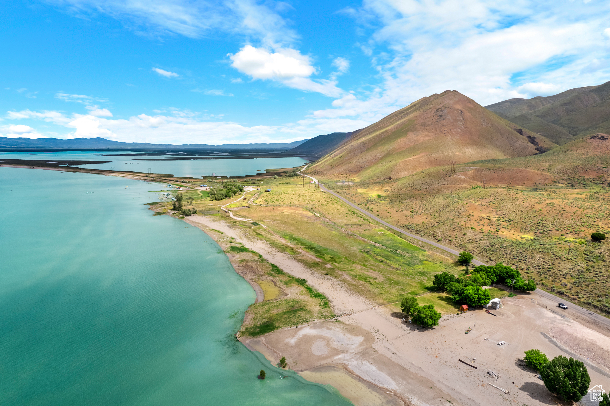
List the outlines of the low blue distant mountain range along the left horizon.
{"type": "Polygon", "coordinates": [[[120,141],[106,140],[106,138],[73,138],[60,140],[59,138],[7,138],[0,137],[0,148],[23,149],[292,149],[307,140],[292,143],[268,144],[149,144],[149,143],[121,143],[120,141]]]}

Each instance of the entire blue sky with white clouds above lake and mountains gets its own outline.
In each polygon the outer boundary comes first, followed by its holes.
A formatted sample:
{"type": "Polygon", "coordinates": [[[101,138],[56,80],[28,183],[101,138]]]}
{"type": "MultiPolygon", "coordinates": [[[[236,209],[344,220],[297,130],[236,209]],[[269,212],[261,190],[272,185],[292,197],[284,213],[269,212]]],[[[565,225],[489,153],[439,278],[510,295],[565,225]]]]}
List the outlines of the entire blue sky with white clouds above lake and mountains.
{"type": "Polygon", "coordinates": [[[295,141],[458,90],[610,80],[605,1],[48,0],[0,5],[0,135],[295,141]]]}

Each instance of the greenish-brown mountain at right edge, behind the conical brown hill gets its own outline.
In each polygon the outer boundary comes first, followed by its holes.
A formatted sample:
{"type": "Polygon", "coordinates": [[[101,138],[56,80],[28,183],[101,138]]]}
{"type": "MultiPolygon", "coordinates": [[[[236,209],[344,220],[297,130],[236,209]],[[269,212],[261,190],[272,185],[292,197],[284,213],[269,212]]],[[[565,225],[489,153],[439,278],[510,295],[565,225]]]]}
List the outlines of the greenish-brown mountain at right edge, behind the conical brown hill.
{"type": "Polygon", "coordinates": [[[485,107],[559,145],[575,137],[610,132],[610,82],[485,107]]]}

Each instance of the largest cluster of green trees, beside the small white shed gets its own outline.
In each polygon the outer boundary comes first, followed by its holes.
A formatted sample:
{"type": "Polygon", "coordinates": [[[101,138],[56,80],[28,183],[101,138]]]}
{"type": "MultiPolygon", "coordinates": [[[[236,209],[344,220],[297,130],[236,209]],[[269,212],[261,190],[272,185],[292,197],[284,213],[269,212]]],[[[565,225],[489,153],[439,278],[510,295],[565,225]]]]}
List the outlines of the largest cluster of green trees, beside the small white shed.
{"type": "MultiPolygon", "coordinates": [[[[465,272],[468,272],[468,269],[465,272]]],[[[481,287],[490,286],[493,283],[513,285],[516,290],[520,291],[536,290],[536,282],[523,280],[517,269],[505,266],[501,262],[493,266],[476,266],[470,274],[461,277],[456,277],[449,272],[442,272],[434,276],[432,285],[439,291],[449,293],[454,302],[476,307],[489,303],[491,300],[489,291],[481,287]]]]}

